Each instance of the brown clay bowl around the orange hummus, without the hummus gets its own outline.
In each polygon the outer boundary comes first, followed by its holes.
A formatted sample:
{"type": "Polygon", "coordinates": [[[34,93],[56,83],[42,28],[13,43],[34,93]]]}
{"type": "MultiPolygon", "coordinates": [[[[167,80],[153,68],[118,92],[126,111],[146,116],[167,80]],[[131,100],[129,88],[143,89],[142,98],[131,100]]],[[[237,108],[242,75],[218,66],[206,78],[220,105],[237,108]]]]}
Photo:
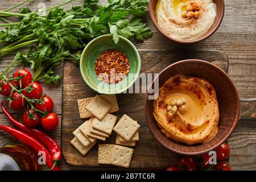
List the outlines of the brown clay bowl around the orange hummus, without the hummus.
{"type": "MultiPolygon", "coordinates": [[[[164,127],[164,125],[161,126],[159,120],[156,121],[154,117],[156,116],[154,104],[157,103],[161,96],[160,94],[157,96],[152,90],[148,90],[144,105],[147,126],[151,134],[160,144],[177,154],[205,154],[220,146],[220,144],[224,143],[233,133],[240,117],[240,98],[231,78],[216,65],[203,60],[184,60],[168,66],[155,78],[150,88],[155,88],[155,86],[157,86],[155,84],[158,83],[160,91],[163,86],[170,81],[170,78],[179,76],[185,81],[186,78],[191,80],[191,77],[192,79],[201,78],[201,83],[197,82],[197,85],[208,82],[209,85],[212,85],[214,88],[214,96],[217,97],[218,103],[218,115],[215,117],[218,120],[218,127],[214,130],[214,135],[212,135],[212,138],[206,139],[203,143],[195,142],[196,144],[193,143],[193,139],[189,140],[188,136],[185,136],[188,137],[188,139],[184,138],[185,142],[181,140],[183,138],[176,139],[173,136],[170,137],[170,135],[164,132],[166,127],[164,127]],[[156,95],[155,100],[148,99],[153,98],[154,94],[156,95]]],[[[186,100],[189,105],[189,98],[186,98],[186,100]]],[[[214,120],[213,123],[216,123],[216,119],[214,120]]],[[[172,134],[173,133],[175,133],[175,131],[172,132],[172,134]]],[[[179,131],[177,133],[179,133],[179,131]]]]}

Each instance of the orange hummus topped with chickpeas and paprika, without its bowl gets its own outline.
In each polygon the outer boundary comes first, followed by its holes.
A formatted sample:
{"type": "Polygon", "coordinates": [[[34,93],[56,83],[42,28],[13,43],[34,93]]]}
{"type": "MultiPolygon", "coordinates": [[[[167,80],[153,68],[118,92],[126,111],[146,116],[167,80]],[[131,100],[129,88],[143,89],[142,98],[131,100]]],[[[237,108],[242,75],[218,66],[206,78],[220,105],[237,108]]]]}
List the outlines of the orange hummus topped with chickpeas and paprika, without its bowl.
{"type": "Polygon", "coordinates": [[[176,142],[209,142],[220,117],[216,92],[204,78],[171,77],[159,89],[153,115],[161,131],[176,142]]]}

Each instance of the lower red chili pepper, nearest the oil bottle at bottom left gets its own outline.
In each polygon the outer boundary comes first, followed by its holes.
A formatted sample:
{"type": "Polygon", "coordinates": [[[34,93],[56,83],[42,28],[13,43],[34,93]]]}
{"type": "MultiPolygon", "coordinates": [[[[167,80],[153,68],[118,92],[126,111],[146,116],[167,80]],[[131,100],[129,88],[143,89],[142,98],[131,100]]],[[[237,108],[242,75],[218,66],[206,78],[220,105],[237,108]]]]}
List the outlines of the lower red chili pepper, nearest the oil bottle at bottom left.
{"type": "Polygon", "coordinates": [[[43,146],[42,143],[38,142],[38,140],[32,138],[30,135],[24,133],[23,131],[19,131],[10,126],[0,125],[0,130],[5,131],[13,135],[16,139],[20,140],[20,142],[26,144],[27,146],[34,149],[36,152],[44,151],[46,154],[46,164],[53,171],[59,171],[60,168],[55,166],[52,162],[52,157],[46,147],[43,146]]]}

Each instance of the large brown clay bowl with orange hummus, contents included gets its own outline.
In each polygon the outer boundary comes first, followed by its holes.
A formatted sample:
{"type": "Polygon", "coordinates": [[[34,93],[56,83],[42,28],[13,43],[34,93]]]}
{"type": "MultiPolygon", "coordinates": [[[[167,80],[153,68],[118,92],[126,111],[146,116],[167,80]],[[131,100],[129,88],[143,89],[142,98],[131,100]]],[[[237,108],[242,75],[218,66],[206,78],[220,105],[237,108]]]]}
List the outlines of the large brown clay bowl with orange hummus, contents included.
{"type": "Polygon", "coordinates": [[[240,98],[222,69],[203,60],[184,60],[152,82],[144,114],[151,134],[164,147],[181,155],[201,155],[233,133],[240,98]]]}

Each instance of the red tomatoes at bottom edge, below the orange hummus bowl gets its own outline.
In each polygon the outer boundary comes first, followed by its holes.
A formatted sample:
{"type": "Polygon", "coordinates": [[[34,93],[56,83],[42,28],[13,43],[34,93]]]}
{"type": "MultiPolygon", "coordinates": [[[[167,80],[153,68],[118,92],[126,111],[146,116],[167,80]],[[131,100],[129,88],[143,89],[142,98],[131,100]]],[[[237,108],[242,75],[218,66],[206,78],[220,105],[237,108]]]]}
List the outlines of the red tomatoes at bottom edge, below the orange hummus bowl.
{"type": "Polygon", "coordinates": [[[231,171],[230,164],[225,160],[229,158],[230,148],[227,143],[223,143],[216,148],[217,164],[210,165],[210,155],[204,154],[200,156],[184,156],[179,160],[179,167],[168,167],[166,171],[231,171]]]}

